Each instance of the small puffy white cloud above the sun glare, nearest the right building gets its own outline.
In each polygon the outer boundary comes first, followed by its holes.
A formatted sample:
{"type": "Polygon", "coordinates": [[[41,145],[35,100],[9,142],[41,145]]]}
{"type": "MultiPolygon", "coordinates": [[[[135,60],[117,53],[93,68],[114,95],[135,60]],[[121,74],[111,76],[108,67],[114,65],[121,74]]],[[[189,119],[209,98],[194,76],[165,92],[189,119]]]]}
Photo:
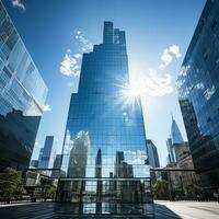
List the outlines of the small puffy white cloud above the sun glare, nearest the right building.
{"type": "Polygon", "coordinates": [[[173,61],[173,57],[180,58],[181,51],[180,47],[177,45],[169,46],[163,50],[163,54],[161,55],[161,65],[159,66],[160,69],[164,69],[166,66],[169,66],[173,61]]]}

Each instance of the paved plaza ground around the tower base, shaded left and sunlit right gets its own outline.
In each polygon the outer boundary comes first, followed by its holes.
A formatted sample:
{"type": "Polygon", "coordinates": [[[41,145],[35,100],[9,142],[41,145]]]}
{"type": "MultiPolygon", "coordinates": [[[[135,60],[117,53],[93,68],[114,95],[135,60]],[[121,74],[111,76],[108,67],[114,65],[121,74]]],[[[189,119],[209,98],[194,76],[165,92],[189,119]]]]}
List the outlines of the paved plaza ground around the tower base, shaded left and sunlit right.
{"type": "MultiPolygon", "coordinates": [[[[77,219],[77,218],[146,218],[141,216],[126,215],[124,217],[88,215],[81,217],[76,215],[72,205],[36,203],[21,204],[13,206],[0,206],[0,219],[77,219]]],[[[218,219],[218,203],[196,203],[196,201],[155,201],[155,219],[218,219]]]]}

